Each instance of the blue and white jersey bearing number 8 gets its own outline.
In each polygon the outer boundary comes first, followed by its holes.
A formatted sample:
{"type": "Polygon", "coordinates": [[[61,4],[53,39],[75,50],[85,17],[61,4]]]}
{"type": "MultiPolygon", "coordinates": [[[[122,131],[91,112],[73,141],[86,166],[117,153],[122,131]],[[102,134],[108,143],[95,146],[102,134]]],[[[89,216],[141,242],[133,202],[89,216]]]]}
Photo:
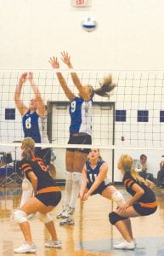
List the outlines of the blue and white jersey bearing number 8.
{"type": "Polygon", "coordinates": [[[23,131],[25,137],[31,137],[35,143],[48,143],[47,118],[43,118],[37,112],[30,110],[22,118],[23,131]]]}

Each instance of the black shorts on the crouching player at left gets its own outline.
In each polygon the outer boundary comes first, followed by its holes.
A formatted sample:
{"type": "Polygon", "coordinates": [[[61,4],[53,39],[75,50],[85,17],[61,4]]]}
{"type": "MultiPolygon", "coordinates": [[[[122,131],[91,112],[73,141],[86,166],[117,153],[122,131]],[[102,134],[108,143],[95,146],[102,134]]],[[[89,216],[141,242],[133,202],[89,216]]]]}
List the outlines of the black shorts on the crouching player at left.
{"type": "Polygon", "coordinates": [[[41,201],[46,207],[56,207],[59,204],[59,201],[61,200],[61,192],[48,192],[48,193],[42,193],[35,195],[35,197],[41,201]]]}

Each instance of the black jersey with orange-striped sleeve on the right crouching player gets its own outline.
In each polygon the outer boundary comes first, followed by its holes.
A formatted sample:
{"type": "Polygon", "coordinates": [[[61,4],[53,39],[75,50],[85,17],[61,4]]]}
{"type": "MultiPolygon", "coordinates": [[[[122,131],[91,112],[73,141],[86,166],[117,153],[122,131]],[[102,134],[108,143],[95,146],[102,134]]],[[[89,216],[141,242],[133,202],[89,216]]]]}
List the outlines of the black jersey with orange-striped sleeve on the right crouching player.
{"type": "Polygon", "coordinates": [[[139,198],[138,202],[146,204],[146,203],[152,203],[156,201],[156,195],[154,194],[154,192],[149,187],[144,185],[144,183],[139,183],[139,181],[136,181],[132,177],[130,172],[125,173],[122,181],[126,187],[127,192],[130,195],[135,195],[136,193],[133,190],[133,184],[138,184],[139,187],[144,190],[144,194],[139,198]]]}

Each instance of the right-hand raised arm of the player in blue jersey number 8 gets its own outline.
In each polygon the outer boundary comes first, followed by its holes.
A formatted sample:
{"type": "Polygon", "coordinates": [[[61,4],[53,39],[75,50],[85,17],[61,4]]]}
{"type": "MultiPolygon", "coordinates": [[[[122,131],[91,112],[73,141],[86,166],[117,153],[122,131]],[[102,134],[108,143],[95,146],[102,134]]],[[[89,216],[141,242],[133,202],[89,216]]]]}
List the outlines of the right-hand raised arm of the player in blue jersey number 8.
{"type": "Polygon", "coordinates": [[[36,97],[36,100],[37,100],[37,113],[40,115],[40,116],[46,116],[47,115],[47,111],[46,111],[46,108],[45,108],[45,105],[44,105],[44,102],[42,100],[42,96],[41,96],[41,93],[37,87],[37,84],[35,83],[34,79],[33,79],[33,73],[29,72],[29,76],[28,76],[28,79],[31,83],[31,88],[34,92],[34,95],[36,97]]]}

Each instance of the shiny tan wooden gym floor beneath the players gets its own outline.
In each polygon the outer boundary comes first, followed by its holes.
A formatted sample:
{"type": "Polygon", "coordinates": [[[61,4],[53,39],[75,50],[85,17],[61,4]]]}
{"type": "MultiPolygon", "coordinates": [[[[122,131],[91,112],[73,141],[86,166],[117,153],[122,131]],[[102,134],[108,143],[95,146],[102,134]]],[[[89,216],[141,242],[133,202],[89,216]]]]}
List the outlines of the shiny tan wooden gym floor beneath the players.
{"type": "MultiPolygon", "coordinates": [[[[118,189],[120,189],[118,187],[118,189]]],[[[127,192],[121,189],[127,197],[127,192]]],[[[30,220],[33,240],[37,245],[37,256],[163,256],[164,255],[164,194],[162,189],[155,189],[159,207],[156,213],[148,217],[133,218],[133,235],[137,247],[133,251],[114,250],[113,244],[120,235],[111,226],[108,214],[115,205],[100,195],[93,195],[84,204],[77,201],[75,226],[59,226],[56,214],[61,209],[54,209],[56,230],[62,241],[62,248],[45,248],[44,241],[48,240],[48,232],[37,217],[30,220]]],[[[62,192],[63,195],[65,191],[62,192]]],[[[29,253],[14,253],[14,247],[19,247],[23,236],[18,224],[12,219],[12,212],[20,204],[20,188],[8,185],[0,187],[0,256],[29,255],[29,253]]]]}

